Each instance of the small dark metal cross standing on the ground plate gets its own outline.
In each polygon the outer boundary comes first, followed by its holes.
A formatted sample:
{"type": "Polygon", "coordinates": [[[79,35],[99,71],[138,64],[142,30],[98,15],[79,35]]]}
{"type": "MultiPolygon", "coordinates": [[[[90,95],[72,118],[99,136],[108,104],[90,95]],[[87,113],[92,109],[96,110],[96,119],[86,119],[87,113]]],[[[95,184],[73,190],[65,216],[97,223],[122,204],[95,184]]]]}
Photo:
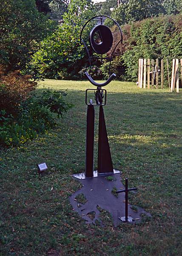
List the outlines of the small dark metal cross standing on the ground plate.
{"type": "Polygon", "coordinates": [[[133,218],[128,216],[128,191],[137,190],[137,188],[128,189],[128,178],[125,179],[125,189],[117,190],[116,193],[125,192],[125,216],[119,217],[119,219],[123,222],[132,222],[133,218]]]}

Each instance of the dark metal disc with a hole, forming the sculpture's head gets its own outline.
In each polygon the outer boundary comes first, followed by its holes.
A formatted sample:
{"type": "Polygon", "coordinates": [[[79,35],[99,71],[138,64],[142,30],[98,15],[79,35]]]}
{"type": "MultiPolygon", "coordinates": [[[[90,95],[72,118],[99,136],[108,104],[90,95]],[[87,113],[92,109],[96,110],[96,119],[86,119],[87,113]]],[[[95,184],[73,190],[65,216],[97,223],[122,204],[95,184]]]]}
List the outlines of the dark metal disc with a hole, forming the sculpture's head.
{"type": "Polygon", "coordinates": [[[113,44],[113,35],[111,30],[105,25],[97,25],[90,32],[90,44],[94,52],[98,54],[105,54],[108,52],[113,44]],[[99,34],[100,43],[94,40],[94,35],[99,34]]]}

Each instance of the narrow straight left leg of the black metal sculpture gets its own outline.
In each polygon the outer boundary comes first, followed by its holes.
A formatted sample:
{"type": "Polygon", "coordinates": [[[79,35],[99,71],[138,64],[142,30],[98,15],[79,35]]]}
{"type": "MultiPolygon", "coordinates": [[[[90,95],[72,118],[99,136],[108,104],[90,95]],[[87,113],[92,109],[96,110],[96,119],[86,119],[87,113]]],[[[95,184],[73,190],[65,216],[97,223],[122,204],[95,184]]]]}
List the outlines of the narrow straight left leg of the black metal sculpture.
{"type": "Polygon", "coordinates": [[[95,111],[93,105],[87,108],[87,137],[86,137],[86,159],[85,177],[93,177],[94,166],[94,118],[95,111]]]}

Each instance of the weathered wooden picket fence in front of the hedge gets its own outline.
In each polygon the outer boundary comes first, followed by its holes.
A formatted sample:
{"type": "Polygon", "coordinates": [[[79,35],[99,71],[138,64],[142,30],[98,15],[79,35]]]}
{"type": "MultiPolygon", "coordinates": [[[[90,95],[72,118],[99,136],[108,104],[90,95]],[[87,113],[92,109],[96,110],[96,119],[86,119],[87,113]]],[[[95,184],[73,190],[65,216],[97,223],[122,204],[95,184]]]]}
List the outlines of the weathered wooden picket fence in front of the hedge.
{"type": "MultiPolygon", "coordinates": [[[[173,59],[172,65],[172,74],[171,74],[171,82],[170,82],[170,74],[169,74],[169,64],[168,60],[166,60],[167,69],[168,69],[168,84],[169,89],[172,92],[176,87],[176,92],[179,93],[179,60],[173,59]]],[[[182,59],[180,59],[181,66],[181,74],[182,74],[182,59]]],[[[161,89],[164,87],[164,60],[161,60],[161,64],[159,66],[159,60],[156,59],[142,59],[139,58],[139,69],[138,69],[138,82],[137,85],[139,88],[159,88],[159,83],[161,89]],[[161,74],[159,81],[159,72],[161,74]]]]}

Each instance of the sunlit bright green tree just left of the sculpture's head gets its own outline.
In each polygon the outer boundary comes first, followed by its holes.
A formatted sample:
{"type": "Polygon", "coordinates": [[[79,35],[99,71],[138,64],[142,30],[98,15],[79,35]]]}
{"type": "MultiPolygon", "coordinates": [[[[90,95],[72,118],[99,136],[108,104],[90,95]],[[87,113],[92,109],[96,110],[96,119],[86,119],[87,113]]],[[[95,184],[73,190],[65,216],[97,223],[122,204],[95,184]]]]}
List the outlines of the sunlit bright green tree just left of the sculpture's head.
{"type": "Polygon", "coordinates": [[[63,25],[43,40],[34,54],[30,67],[33,74],[55,79],[78,79],[79,71],[87,63],[85,49],[80,46],[80,31],[93,14],[91,1],[71,0],[68,12],[63,16],[63,25]]]}

